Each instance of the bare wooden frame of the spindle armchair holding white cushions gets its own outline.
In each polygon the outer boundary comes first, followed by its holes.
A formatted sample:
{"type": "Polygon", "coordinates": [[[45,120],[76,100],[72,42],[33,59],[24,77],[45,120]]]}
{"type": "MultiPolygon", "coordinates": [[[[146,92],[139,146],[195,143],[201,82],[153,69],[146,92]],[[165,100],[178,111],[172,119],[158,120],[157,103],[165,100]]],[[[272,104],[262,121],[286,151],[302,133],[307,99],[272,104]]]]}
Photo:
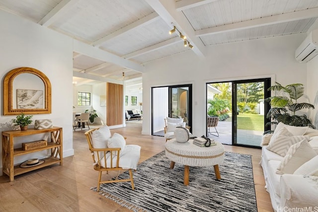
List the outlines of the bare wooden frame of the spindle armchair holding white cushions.
{"type": "MultiPolygon", "coordinates": [[[[131,187],[132,187],[132,190],[135,189],[134,187],[134,179],[133,179],[133,172],[132,172],[132,169],[129,169],[129,175],[130,175],[130,178],[128,179],[121,179],[119,180],[118,179],[118,175],[120,173],[121,170],[123,170],[122,167],[119,166],[119,159],[120,159],[120,150],[121,148],[94,148],[93,145],[92,145],[92,139],[91,139],[91,134],[93,131],[95,130],[98,130],[99,128],[94,128],[94,129],[91,129],[87,132],[85,132],[85,136],[86,136],[86,139],[87,139],[87,142],[88,142],[88,146],[89,146],[89,150],[91,152],[91,156],[93,158],[93,165],[94,165],[94,169],[96,171],[98,171],[98,183],[97,183],[97,191],[99,191],[99,187],[100,187],[100,184],[102,183],[116,183],[116,182],[127,182],[127,181],[130,181],[131,182],[131,187]],[[116,166],[113,166],[113,158],[111,157],[110,158],[110,167],[107,167],[107,163],[106,163],[106,153],[107,152],[110,152],[110,154],[113,154],[113,152],[116,152],[117,151],[117,157],[116,157],[116,166]],[[94,155],[94,152],[97,153],[97,158],[95,158],[95,155],[94,155]],[[101,160],[99,158],[99,152],[102,152],[102,155],[104,156],[102,159],[104,160],[104,164],[106,167],[102,167],[101,166],[101,160]],[[103,171],[106,171],[106,173],[108,174],[108,171],[118,171],[118,174],[117,174],[117,177],[116,179],[114,180],[106,180],[106,181],[101,181],[101,175],[102,175],[102,172],[103,171]]],[[[125,138],[126,139],[126,138],[125,138]]]]}

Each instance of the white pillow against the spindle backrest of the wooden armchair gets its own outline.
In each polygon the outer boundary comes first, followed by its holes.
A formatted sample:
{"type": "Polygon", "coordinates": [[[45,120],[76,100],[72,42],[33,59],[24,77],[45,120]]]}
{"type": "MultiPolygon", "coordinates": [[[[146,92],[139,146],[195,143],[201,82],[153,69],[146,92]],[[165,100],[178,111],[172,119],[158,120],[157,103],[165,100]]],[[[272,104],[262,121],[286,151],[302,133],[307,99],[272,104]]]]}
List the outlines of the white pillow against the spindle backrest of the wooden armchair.
{"type": "MultiPolygon", "coordinates": [[[[91,133],[91,141],[94,148],[107,148],[107,141],[111,134],[108,126],[103,126],[98,130],[91,133]]],[[[94,152],[95,159],[97,160],[97,152],[94,152]]],[[[99,159],[103,157],[103,152],[99,152],[99,159]]]]}

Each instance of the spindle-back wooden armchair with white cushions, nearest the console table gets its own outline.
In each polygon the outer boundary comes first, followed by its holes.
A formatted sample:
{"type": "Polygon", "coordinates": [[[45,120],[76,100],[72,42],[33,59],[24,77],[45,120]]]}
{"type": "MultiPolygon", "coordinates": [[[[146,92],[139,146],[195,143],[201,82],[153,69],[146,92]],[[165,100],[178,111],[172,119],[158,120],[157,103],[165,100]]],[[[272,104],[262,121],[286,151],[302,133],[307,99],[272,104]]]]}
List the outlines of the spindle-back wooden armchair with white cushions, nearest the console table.
{"type": "Polygon", "coordinates": [[[133,144],[126,145],[126,138],[116,133],[110,138],[108,126],[91,129],[84,134],[92,155],[94,170],[98,171],[97,191],[102,183],[127,181],[131,182],[132,190],[134,190],[132,169],[137,169],[141,147],[133,144]],[[129,170],[130,177],[128,179],[118,179],[119,173],[123,169],[129,170]],[[118,171],[118,174],[115,179],[102,181],[103,171],[106,171],[107,174],[108,171],[118,171]]]}

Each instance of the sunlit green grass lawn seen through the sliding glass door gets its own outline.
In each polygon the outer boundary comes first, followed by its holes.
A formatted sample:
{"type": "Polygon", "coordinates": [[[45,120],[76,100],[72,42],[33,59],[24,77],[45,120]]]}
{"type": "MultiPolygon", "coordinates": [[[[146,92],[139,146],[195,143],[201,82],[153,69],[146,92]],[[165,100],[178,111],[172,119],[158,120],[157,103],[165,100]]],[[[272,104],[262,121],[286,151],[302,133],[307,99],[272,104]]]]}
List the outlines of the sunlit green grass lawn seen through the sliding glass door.
{"type": "MultiPolygon", "coordinates": [[[[227,122],[232,122],[232,114],[227,122]]],[[[264,131],[264,115],[240,113],[238,115],[239,130],[264,131]]]]}

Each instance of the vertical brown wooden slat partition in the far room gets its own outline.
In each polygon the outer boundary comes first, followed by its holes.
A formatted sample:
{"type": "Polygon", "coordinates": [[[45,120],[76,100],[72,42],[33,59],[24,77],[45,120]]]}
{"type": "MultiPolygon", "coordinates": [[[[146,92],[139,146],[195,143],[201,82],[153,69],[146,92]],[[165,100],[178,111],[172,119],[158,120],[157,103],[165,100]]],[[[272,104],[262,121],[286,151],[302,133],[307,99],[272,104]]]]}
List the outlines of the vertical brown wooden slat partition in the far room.
{"type": "Polygon", "coordinates": [[[108,126],[123,124],[124,90],[123,85],[107,82],[106,123],[108,126]]]}

